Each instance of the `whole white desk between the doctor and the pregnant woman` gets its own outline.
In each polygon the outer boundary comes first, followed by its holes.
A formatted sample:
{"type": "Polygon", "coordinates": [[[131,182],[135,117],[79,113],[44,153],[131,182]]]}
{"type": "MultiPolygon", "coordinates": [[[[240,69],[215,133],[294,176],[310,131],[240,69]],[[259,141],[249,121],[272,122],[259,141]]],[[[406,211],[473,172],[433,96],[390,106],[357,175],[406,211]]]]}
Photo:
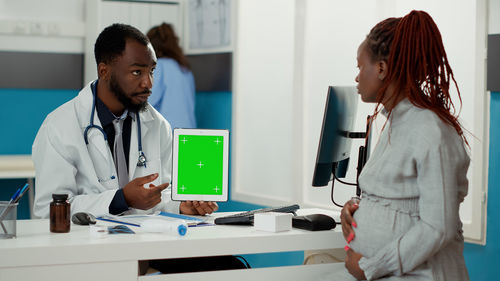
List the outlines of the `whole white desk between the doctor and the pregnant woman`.
{"type": "MultiPolygon", "coordinates": [[[[103,224],[99,222],[99,224],[103,224]]],[[[162,234],[90,237],[88,227],[49,232],[48,220],[18,221],[17,238],[0,240],[0,280],[316,280],[343,264],[300,265],[201,273],[139,276],[138,261],[342,248],[340,227],[281,233],[249,226],[189,228],[184,237],[162,234]],[[265,277],[265,278],[263,278],[265,277]]],[[[140,231],[138,228],[134,230],[140,231]]]]}

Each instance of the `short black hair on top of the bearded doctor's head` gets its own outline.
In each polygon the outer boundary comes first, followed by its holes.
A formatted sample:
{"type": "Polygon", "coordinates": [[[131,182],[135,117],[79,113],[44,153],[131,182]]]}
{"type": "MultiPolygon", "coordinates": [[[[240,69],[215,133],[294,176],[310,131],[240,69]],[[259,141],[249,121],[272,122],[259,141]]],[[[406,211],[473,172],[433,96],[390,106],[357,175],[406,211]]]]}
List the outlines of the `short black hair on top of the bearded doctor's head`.
{"type": "Polygon", "coordinates": [[[106,27],[97,37],[94,45],[94,55],[97,65],[111,63],[125,51],[127,39],[135,40],[144,46],[150,42],[139,29],[128,25],[115,23],[106,27]]]}

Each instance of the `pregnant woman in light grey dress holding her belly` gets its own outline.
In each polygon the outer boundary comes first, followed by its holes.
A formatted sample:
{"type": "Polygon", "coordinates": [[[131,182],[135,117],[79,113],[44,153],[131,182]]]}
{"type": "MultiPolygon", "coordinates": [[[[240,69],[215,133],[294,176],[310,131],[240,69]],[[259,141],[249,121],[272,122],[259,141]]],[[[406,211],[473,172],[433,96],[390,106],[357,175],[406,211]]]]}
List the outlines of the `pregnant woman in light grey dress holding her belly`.
{"type": "Polygon", "coordinates": [[[423,11],[378,23],[357,55],[358,91],[387,118],[341,212],[346,270],[331,280],[469,280],[459,206],[468,143],[441,34],[423,11]]]}

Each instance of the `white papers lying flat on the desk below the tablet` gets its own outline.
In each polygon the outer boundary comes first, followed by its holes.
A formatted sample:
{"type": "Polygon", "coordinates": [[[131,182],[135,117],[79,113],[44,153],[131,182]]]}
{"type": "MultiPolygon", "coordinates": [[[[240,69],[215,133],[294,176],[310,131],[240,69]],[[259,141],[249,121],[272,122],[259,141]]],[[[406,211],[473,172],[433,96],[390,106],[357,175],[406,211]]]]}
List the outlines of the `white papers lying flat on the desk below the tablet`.
{"type": "Polygon", "coordinates": [[[158,219],[163,219],[163,220],[167,220],[167,221],[184,220],[188,226],[196,226],[199,224],[206,223],[205,220],[203,220],[201,218],[180,215],[180,214],[167,213],[167,212],[158,212],[158,213],[152,214],[152,215],[143,215],[143,214],[125,215],[125,216],[104,215],[102,217],[98,217],[97,219],[103,220],[103,221],[116,222],[116,223],[122,223],[122,224],[128,224],[128,225],[140,227],[142,222],[144,222],[147,219],[151,219],[151,218],[158,218],[158,219]]]}

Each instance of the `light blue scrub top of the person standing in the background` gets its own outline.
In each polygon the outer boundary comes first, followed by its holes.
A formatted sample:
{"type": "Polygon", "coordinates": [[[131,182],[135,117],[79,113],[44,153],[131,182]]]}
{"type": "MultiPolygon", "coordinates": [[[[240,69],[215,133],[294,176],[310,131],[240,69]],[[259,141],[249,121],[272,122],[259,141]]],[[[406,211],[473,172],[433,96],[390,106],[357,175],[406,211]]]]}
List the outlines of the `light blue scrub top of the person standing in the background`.
{"type": "Polygon", "coordinates": [[[159,58],[149,103],[173,128],[196,128],[193,74],[171,58],[159,58]]]}

